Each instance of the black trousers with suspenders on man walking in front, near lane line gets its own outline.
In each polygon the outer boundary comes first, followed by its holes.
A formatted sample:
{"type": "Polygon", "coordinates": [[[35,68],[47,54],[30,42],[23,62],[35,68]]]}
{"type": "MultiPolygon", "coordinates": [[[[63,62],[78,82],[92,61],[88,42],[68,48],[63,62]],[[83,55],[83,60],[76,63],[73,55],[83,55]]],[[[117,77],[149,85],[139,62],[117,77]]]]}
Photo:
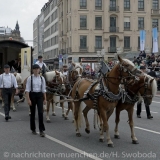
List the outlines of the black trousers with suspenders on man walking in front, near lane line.
{"type": "MultiPolygon", "coordinates": [[[[41,76],[40,76],[41,77],[41,76]]],[[[32,106],[30,106],[31,116],[30,116],[30,128],[32,131],[36,130],[35,124],[35,113],[36,105],[38,109],[38,119],[39,119],[39,131],[45,131],[43,123],[43,93],[42,93],[42,77],[41,77],[41,92],[33,92],[33,80],[31,76],[31,92],[29,93],[32,106]]]]}

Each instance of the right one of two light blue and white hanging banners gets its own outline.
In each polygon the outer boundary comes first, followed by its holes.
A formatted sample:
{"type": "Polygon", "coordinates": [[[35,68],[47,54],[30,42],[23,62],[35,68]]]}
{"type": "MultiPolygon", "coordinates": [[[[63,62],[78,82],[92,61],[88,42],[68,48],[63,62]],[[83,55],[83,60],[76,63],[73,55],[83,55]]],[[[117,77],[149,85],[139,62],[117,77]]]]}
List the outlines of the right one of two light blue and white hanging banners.
{"type": "Polygon", "coordinates": [[[152,28],[152,36],[153,36],[153,53],[158,52],[158,31],[157,28],[152,28]]]}

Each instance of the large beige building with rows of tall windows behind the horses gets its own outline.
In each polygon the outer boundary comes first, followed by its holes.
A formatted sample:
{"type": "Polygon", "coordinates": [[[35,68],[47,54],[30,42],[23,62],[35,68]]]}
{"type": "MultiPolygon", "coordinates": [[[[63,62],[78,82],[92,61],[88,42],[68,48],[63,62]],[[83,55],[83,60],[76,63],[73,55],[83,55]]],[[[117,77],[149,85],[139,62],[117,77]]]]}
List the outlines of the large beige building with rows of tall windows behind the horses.
{"type": "Polygon", "coordinates": [[[103,48],[106,60],[117,48],[139,52],[143,29],[146,51],[151,52],[152,27],[160,25],[159,0],[58,0],[58,8],[63,63],[96,62],[97,51],[103,48]]]}

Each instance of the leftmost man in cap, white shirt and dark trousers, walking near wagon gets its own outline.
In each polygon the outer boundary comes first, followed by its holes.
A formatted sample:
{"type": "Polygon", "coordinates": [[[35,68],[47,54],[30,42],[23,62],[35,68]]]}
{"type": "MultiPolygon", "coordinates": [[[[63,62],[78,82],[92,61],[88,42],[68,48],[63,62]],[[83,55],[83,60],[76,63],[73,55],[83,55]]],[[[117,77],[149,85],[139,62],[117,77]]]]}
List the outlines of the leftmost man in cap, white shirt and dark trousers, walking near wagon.
{"type": "Polygon", "coordinates": [[[8,119],[11,119],[11,116],[9,116],[9,111],[13,88],[16,89],[15,94],[18,94],[18,85],[16,78],[10,73],[10,66],[6,64],[4,66],[4,73],[0,75],[0,97],[2,96],[4,101],[4,112],[6,121],[8,121],[8,119]]]}

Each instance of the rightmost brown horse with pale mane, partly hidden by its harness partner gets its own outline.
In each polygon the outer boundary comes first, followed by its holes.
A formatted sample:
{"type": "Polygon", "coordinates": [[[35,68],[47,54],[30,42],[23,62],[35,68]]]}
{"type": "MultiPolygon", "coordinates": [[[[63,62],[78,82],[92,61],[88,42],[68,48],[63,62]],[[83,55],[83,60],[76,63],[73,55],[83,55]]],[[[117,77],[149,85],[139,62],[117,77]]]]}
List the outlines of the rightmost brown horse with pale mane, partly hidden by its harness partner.
{"type": "Polygon", "coordinates": [[[135,83],[134,85],[128,85],[126,88],[127,97],[124,102],[122,100],[118,101],[118,104],[116,106],[115,114],[115,135],[114,137],[116,139],[119,139],[119,132],[118,132],[118,124],[120,121],[120,112],[122,110],[126,110],[128,112],[128,121],[129,126],[131,129],[131,138],[133,144],[138,144],[138,139],[135,136],[134,133],[134,122],[133,122],[133,112],[134,112],[134,105],[136,101],[138,100],[137,97],[139,97],[140,101],[143,98],[145,105],[150,105],[152,103],[152,98],[155,96],[157,92],[157,83],[154,78],[144,73],[144,76],[140,77],[140,81],[138,83],[135,83]]]}

